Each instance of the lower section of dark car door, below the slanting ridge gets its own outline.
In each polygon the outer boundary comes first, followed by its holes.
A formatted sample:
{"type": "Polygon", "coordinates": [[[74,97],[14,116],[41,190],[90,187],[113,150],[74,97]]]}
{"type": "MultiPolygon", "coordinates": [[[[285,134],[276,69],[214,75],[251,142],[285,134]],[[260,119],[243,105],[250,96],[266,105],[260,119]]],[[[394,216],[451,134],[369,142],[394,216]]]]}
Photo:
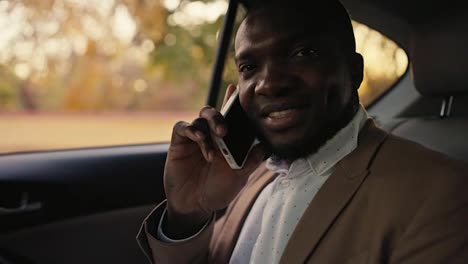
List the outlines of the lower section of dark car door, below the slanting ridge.
{"type": "MultiPolygon", "coordinates": [[[[12,263],[146,263],[135,235],[152,209],[140,206],[26,228],[0,239],[12,263]]],[[[1,262],[0,262],[1,263],[1,262]]]]}

